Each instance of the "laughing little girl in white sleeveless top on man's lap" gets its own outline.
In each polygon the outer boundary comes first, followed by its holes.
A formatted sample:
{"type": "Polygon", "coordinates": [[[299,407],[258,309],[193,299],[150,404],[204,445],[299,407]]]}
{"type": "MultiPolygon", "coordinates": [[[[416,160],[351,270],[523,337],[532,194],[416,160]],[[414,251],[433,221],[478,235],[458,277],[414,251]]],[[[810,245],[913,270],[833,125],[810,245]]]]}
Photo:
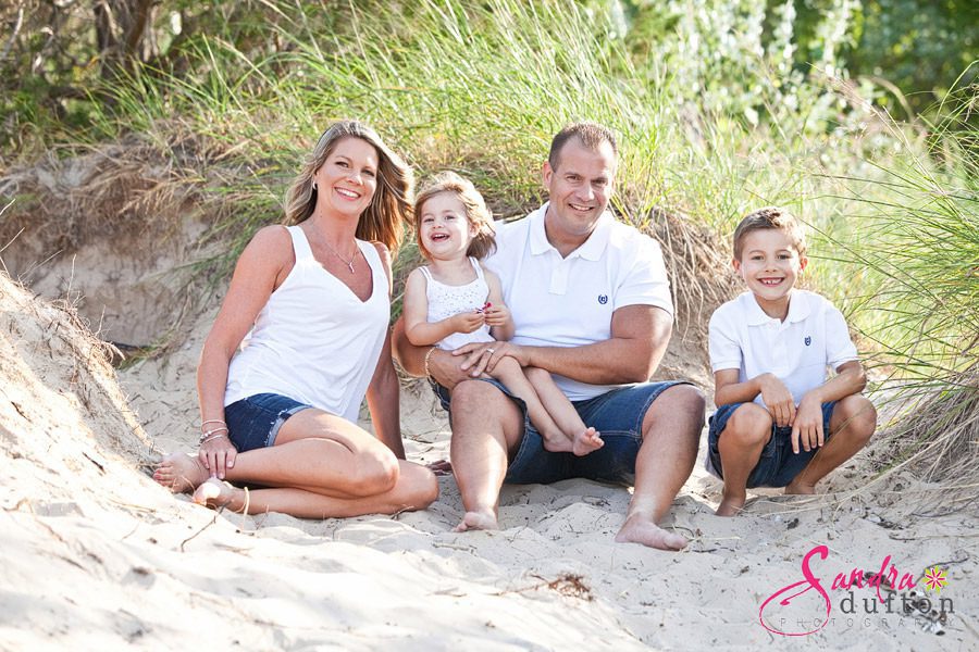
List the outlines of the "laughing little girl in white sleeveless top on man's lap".
{"type": "MultiPolygon", "coordinates": [[[[414,202],[418,248],[429,261],[408,276],[405,334],[417,347],[451,351],[469,342],[513,337],[513,319],[503,302],[499,278],[479,259],[496,248],[490,211],[471,181],[446,172],[414,202]]],[[[526,403],[531,423],[548,451],[586,455],[605,442],[585,426],[571,402],[544,369],[521,368],[512,358],[491,374],[526,403]]]]}

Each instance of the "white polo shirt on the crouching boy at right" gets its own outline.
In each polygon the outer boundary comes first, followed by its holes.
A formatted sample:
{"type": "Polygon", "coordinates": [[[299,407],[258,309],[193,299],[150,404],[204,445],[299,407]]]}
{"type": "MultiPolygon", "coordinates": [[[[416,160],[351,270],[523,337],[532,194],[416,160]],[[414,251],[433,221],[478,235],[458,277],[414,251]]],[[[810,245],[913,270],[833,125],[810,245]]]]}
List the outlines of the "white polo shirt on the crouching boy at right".
{"type": "MultiPolygon", "coordinates": [[[[827,367],[857,360],[843,314],[806,290],[792,290],[784,322],[769,317],[755,296],[744,292],[714,312],[709,334],[715,372],[739,369],[739,383],[774,374],[796,404],[826,383],[827,367]]],[[[760,393],[755,402],[765,405],[760,393]]]]}

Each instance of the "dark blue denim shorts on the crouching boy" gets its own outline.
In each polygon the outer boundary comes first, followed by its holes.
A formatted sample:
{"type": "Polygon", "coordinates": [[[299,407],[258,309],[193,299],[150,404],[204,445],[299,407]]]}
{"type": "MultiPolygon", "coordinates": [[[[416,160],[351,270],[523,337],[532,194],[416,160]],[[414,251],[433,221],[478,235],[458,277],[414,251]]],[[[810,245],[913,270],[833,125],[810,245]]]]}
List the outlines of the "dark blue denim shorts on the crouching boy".
{"type": "MultiPolygon", "coordinates": [[[[743,405],[743,403],[728,403],[717,409],[709,419],[710,429],[707,436],[707,454],[710,456],[710,464],[717,471],[718,475],[723,478],[724,471],[721,468],[720,450],[718,441],[723,434],[728,419],[734,414],[734,411],[743,405]]],[[[830,401],[822,404],[822,436],[823,441],[830,438],[830,418],[833,415],[833,408],[837,401],[830,401]]],[[[825,446],[825,444],[823,444],[825,446]]],[[[790,426],[771,426],[771,438],[765,444],[761,451],[761,457],[748,475],[747,488],[755,487],[785,487],[795,476],[801,474],[809,464],[809,461],[819,452],[818,448],[806,450],[800,444],[798,453],[792,452],[792,428],[790,426]]]]}

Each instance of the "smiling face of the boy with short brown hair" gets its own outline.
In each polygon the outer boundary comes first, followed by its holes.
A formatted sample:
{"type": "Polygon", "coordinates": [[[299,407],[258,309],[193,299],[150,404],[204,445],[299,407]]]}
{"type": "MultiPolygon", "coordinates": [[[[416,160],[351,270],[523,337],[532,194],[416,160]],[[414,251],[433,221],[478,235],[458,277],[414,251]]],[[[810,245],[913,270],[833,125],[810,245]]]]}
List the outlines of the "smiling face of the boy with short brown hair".
{"type": "Polygon", "coordinates": [[[744,235],[741,260],[734,259],[734,271],[768,315],[784,319],[789,293],[808,262],[806,256],[800,256],[788,234],[763,228],[744,235]]]}

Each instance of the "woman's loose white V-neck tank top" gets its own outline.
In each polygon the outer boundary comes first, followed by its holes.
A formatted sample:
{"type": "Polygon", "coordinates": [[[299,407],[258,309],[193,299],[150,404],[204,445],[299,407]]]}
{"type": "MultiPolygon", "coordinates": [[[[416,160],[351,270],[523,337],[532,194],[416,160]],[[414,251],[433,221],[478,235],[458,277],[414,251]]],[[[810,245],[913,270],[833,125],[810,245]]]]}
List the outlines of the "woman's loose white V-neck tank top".
{"type": "Polygon", "coordinates": [[[313,258],[301,228],[288,230],[296,264],[232,359],[224,404],[277,393],[357,423],[391,319],[384,264],[357,240],[373,277],[361,301],[313,258]]]}

